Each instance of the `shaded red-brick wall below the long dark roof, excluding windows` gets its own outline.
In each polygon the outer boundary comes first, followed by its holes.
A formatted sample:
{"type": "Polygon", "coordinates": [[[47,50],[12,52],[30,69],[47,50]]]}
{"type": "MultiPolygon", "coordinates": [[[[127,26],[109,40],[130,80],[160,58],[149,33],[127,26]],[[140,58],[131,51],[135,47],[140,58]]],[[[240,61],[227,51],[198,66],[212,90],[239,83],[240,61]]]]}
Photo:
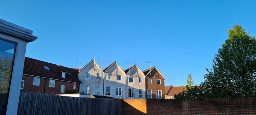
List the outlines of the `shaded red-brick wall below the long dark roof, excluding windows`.
{"type": "Polygon", "coordinates": [[[22,80],[24,80],[24,89],[20,89],[20,92],[36,92],[45,94],[65,94],[67,90],[75,90],[76,92],[79,92],[78,83],[76,83],[76,89],[73,89],[73,83],[61,80],[55,80],[55,87],[49,87],[49,79],[46,78],[40,78],[40,86],[33,85],[33,76],[23,75],[22,80]],[[65,93],[61,93],[61,85],[65,86],[65,93]]]}

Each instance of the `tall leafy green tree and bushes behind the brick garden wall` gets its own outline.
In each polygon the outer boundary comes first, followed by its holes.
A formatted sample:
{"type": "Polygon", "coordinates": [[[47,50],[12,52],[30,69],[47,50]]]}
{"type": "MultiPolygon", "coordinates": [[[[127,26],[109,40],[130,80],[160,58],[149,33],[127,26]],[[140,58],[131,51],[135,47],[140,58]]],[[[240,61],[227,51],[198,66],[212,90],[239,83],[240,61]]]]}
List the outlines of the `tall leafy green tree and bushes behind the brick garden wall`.
{"type": "Polygon", "coordinates": [[[255,37],[240,25],[234,25],[227,33],[228,39],[218,49],[212,69],[207,69],[205,81],[198,88],[183,92],[181,98],[256,97],[255,37]]]}

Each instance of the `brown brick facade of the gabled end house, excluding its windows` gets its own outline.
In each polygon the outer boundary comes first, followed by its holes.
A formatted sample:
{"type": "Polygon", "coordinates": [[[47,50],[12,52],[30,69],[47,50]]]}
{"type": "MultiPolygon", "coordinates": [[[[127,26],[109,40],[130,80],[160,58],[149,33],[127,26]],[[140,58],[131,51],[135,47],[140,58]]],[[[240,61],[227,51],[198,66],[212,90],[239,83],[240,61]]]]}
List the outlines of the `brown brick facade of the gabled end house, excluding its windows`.
{"type": "MultiPolygon", "coordinates": [[[[156,98],[156,92],[157,90],[162,91],[162,98],[165,98],[165,93],[164,93],[164,79],[163,76],[161,76],[156,69],[153,69],[151,71],[151,75],[148,74],[146,76],[146,89],[151,89],[152,92],[152,99],[156,98]],[[149,79],[152,79],[152,83],[149,83],[149,79]],[[157,84],[157,79],[161,79],[161,84],[157,84]]],[[[146,98],[147,97],[147,90],[146,90],[146,98]]]]}

